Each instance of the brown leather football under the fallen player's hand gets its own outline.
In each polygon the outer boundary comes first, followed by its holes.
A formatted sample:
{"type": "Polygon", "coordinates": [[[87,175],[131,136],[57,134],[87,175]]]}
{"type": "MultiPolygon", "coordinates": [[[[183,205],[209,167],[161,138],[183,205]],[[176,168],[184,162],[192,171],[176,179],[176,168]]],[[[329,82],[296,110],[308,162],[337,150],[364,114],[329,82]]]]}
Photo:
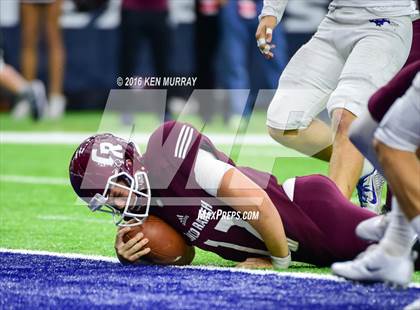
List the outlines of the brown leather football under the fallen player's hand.
{"type": "Polygon", "coordinates": [[[140,232],[149,239],[146,247],[151,250],[142,259],[159,265],[188,265],[193,260],[193,248],[185,243],[181,234],[160,218],[149,215],[142,225],[131,227],[123,241],[129,241],[140,232]]]}

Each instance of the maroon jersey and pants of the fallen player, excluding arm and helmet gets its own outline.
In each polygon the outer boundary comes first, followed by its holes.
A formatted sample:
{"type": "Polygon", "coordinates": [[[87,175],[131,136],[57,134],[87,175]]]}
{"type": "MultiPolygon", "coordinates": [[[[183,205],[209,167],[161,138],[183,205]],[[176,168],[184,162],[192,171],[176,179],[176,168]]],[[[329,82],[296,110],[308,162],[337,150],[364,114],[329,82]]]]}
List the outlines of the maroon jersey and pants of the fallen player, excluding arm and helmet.
{"type": "MultiPolygon", "coordinates": [[[[260,235],[240,217],[199,216],[204,212],[217,215],[233,211],[195,181],[193,167],[200,148],[235,166],[208,137],[189,124],[167,122],[152,134],[144,154],[154,197],[150,213],[182,233],[190,245],[225,259],[244,261],[269,256],[260,235]]],[[[373,213],[349,203],[328,178],[297,178],[291,201],[273,175],[236,168],[260,185],[275,204],[293,260],[325,266],[352,259],[366,248],[354,229],[373,213]]]]}

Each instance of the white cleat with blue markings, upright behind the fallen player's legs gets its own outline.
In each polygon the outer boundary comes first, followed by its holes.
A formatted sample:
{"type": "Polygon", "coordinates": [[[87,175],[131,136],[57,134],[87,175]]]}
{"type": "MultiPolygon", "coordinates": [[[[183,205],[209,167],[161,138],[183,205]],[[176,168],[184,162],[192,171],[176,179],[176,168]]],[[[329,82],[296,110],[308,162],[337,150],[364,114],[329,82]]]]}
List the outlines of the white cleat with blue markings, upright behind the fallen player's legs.
{"type": "Polygon", "coordinates": [[[384,183],[384,177],[376,169],[359,179],[356,188],[362,208],[367,208],[376,214],[381,212],[382,188],[384,183]]]}

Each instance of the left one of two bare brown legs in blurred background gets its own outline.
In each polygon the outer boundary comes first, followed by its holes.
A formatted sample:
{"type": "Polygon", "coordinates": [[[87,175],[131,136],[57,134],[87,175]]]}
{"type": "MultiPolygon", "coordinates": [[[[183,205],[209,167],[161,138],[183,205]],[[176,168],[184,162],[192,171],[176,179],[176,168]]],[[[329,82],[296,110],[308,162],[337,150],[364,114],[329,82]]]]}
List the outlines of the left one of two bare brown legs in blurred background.
{"type": "Polygon", "coordinates": [[[22,3],[21,66],[22,75],[28,81],[36,78],[38,67],[38,38],[40,9],[38,4],[22,3]]]}

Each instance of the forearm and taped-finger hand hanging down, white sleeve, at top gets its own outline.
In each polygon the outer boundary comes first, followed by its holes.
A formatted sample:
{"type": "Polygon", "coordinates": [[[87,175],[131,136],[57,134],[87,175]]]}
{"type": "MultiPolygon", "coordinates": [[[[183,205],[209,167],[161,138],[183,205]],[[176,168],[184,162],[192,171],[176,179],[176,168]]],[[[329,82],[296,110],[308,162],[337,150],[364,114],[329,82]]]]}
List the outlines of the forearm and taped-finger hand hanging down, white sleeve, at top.
{"type": "Polygon", "coordinates": [[[259,16],[260,23],[255,38],[258,48],[267,59],[274,57],[271,51],[275,47],[271,44],[273,31],[283,17],[287,2],[288,0],[264,0],[264,7],[259,16]]]}

